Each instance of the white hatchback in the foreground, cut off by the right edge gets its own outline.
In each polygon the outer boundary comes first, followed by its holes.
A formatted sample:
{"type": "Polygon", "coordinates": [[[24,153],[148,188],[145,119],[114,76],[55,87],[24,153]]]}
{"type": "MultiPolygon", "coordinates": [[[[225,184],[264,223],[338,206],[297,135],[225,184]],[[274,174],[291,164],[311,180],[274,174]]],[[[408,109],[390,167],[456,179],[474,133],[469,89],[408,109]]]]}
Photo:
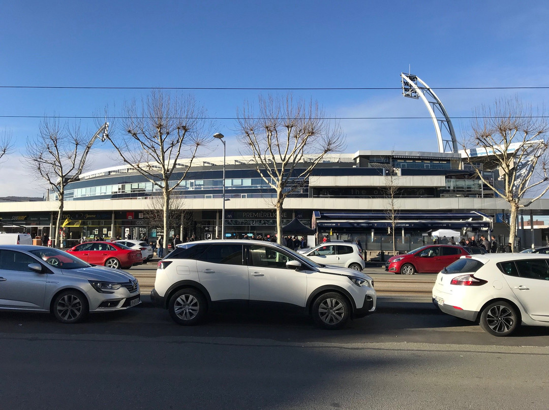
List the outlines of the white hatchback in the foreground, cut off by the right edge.
{"type": "Polygon", "coordinates": [[[461,257],[443,269],[433,303],[507,336],[520,324],[549,326],[549,255],[496,253],[461,257]]]}

